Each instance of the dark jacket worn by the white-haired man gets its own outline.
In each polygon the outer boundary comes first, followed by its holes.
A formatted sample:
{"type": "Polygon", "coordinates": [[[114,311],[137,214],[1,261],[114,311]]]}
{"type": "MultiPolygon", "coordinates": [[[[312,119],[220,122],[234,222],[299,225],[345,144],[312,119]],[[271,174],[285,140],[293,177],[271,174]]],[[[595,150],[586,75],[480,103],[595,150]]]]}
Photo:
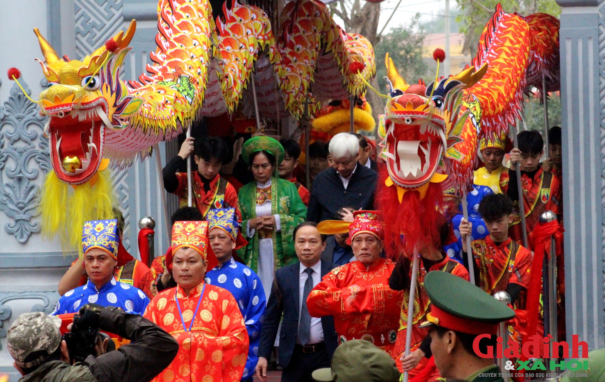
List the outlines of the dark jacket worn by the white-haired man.
{"type": "Polygon", "coordinates": [[[307,221],[318,223],[330,220],[342,207],[373,210],[377,181],[376,171],[358,163],[345,189],[335,169],[329,167],[323,170],[315,176],[311,186],[307,221]]]}

